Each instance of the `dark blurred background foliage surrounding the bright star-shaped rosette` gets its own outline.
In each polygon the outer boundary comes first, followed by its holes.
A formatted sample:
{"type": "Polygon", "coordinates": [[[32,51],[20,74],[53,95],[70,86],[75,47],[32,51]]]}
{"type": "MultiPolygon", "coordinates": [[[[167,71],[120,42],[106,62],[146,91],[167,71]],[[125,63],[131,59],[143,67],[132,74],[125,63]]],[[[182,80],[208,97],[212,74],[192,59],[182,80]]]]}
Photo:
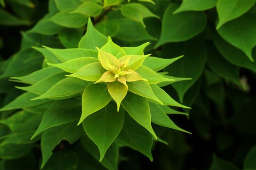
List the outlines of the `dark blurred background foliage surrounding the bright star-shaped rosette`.
{"type": "MultiPolygon", "coordinates": [[[[156,125],[169,145],[154,143],[153,162],[120,148],[120,170],[256,170],[255,0],[0,0],[0,4],[0,106],[22,93],[15,88],[20,83],[8,81],[9,77],[42,67],[43,56],[32,47],[77,48],[87,18],[92,17],[95,28],[120,46],[150,41],[146,51],[153,56],[184,55],[164,71],[192,78],[164,87],[174,99],[193,107],[179,110],[189,113],[187,118],[170,116],[192,135],[156,125]],[[137,6],[129,6],[134,3],[137,6]],[[127,15],[131,9],[135,12],[127,15]]],[[[12,114],[1,112],[0,136],[9,133],[2,120],[12,114]]],[[[39,141],[9,145],[3,141],[0,137],[1,170],[38,169],[39,141]]],[[[104,169],[90,152],[81,151],[81,145],[63,141],[44,169],[104,169]],[[65,168],[56,167],[60,158],[65,168]]]]}

